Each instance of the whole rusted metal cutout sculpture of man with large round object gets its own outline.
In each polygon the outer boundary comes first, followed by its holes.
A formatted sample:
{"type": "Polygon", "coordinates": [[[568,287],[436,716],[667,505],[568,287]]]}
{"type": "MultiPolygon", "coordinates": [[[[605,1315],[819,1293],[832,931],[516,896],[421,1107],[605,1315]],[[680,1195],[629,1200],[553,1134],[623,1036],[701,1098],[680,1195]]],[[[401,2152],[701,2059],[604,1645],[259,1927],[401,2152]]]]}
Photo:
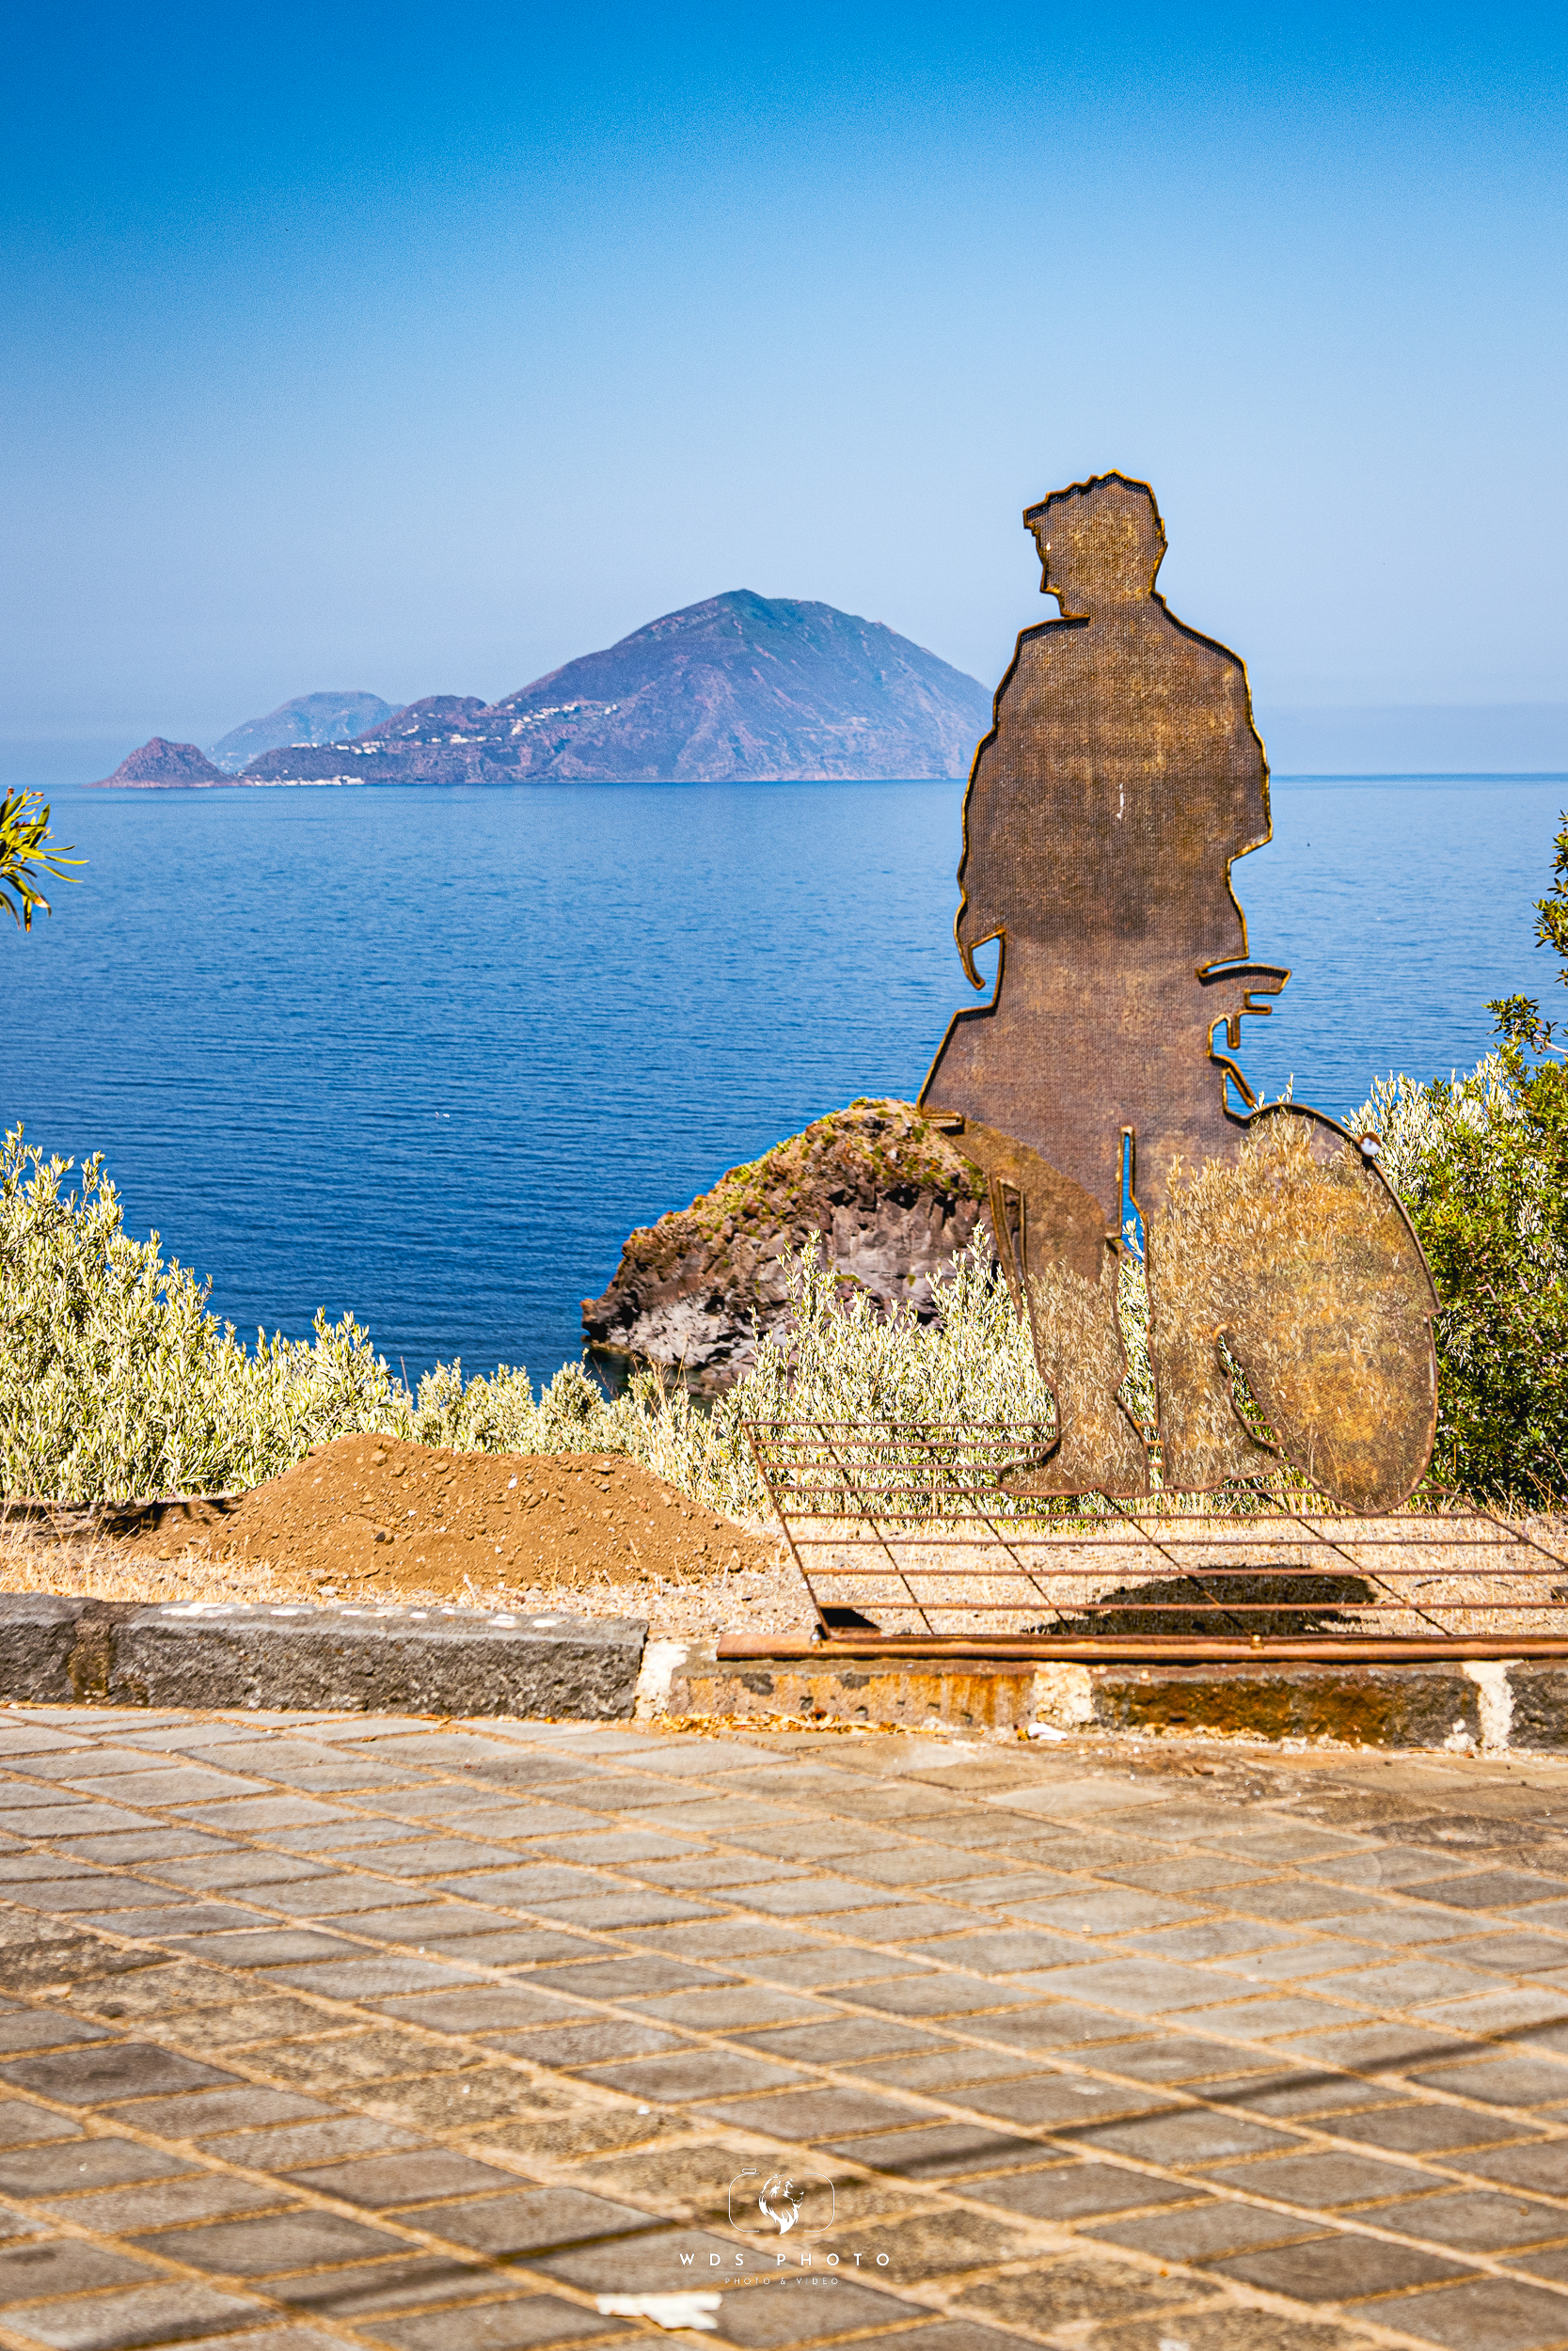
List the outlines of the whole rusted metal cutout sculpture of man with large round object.
{"type": "Polygon", "coordinates": [[[1001,940],[990,1004],[952,1018],[922,1107],[990,1176],[1060,1444],[1041,1488],[1140,1493],[1117,1401],[1124,1187],[1135,1154],[1168,1486],[1279,1451],[1359,1507],[1420,1479],[1432,1284],[1373,1159],[1331,1119],[1258,1110],[1234,1051],[1288,973],[1246,962],[1234,858],[1269,839],[1241,661],[1154,590],[1166,534],[1110,473],[1025,513],[1060,618],[1023,630],[964,799],[959,955],[1001,940]],[[1227,1081],[1239,1089],[1232,1107],[1227,1081]]]}

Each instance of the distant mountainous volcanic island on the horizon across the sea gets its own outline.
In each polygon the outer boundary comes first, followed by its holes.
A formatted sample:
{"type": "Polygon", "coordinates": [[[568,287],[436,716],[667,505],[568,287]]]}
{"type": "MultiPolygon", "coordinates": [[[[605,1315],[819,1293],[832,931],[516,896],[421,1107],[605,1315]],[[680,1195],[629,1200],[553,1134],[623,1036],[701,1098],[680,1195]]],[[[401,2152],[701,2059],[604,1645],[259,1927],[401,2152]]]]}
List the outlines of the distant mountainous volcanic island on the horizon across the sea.
{"type": "Polygon", "coordinates": [[[736,588],[498,703],[306,694],[214,743],[153,736],[106,785],[853,783],[964,776],[978,679],[879,621],[736,588]],[[362,731],[348,734],[350,726],[362,731]],[[339,729],[336,734],[331,729],[339,729]]]}

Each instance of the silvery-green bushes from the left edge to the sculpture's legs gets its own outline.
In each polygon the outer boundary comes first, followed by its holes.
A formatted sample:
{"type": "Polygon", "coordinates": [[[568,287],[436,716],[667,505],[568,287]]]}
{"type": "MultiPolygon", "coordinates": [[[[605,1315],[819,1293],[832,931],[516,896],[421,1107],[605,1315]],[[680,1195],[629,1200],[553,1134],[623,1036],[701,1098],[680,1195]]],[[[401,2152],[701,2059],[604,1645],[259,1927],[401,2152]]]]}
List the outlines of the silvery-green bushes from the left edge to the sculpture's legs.
{"type": "Polygon", "coordinates": [[[581,1364],[536,1396],[527,1371],[463,1380],[442,1364],[409,1394],[369,1333],[315,1317],[310,1340],[207,1312],[209,1284],[125,1232],[103,1161],[21,1131],[0,1154],[0,1493],[99,1500],[256,1486],[353,1432],[475,1453],[628,1453],[715,1509],[759,1514],[748,1420],[1048,1420],[1027,1331],[985,1237],[954,1258],[938,1317],[882,1314],[809,1244],[788,1262],[790,1321],[712,1408],[639,1373],[607,1399],[581,1364]]]}

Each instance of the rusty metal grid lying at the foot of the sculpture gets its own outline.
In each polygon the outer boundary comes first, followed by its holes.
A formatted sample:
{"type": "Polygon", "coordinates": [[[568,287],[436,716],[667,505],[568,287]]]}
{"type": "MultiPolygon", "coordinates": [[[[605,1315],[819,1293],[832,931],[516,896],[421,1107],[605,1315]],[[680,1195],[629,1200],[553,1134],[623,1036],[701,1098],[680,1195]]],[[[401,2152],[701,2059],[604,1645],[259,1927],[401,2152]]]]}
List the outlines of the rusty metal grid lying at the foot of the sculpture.
{"type": "Polygon", "coordinates": [[[1347,1516],[1293,1474],[1046,1495],[1051,1432],[1030,1422],[769,1420],[748,1439],[835,1648],[1568,1655],[1568,1556],[1469,1500],[1347,1516]]]}

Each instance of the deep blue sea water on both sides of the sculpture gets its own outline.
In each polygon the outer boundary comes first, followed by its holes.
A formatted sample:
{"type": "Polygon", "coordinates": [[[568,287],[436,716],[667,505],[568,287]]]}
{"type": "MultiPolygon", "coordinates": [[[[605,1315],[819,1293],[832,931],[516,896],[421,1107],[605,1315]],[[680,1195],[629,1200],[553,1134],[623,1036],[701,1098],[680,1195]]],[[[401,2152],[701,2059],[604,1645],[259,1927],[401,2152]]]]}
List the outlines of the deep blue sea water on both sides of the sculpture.
{"type": "MultiPolygon", "coordinates": [[[[1260,1093],[1347,1114],[1554,994],[1561,781],[1274,783],[1241,860],[1260,1093]]],[[[950,1011],[959,783],[54,792],[82,884],[0,938],[0,1112],[101,1150],[127,1227],[249,1333],[350,1307],[409,1375],[581,1352],[632,1225],[950,1011]]],[[[1556,1006],[1549,1006],[1556,1011],[1556,1006]]],[[[1568,1004],[1563,1004],[1568,1011],[1568,1004]]]]}

